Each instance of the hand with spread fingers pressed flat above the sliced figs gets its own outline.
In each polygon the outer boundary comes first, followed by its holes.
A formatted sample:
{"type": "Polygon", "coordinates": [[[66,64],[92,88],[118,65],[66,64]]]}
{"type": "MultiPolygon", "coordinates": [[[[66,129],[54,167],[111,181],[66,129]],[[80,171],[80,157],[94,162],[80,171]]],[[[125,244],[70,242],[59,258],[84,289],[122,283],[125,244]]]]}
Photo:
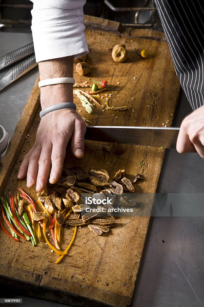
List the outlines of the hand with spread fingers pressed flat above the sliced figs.
{"type": "Polygon", "coordinates": [[[27,174],[27,187],[41,192],[46,187],[50,172],[50,183],[57,182],[61,175],[66,147],[71,139],[72,153],[83,157],[86,124],[74,109],[56,110],[44,115],[40,121],[35,143],[24,156],[18,179],[27,174]],[[50,171],[50,166],[51,171],[50,171]]]}

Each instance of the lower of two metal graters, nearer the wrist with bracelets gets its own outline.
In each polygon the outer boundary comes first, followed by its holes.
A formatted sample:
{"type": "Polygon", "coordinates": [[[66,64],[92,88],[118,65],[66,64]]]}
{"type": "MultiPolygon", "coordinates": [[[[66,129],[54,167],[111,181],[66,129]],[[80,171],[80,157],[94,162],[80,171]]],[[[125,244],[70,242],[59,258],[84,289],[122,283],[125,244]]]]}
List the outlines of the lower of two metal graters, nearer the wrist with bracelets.
{"type": "Polygon", "coordinates": [[[11,68],[0,80],[0,91],[8,84],[32,70],[37,65],[38,63],[36,63],[35,55],[32,55],[13,66],[13,68],[11,68]]]}

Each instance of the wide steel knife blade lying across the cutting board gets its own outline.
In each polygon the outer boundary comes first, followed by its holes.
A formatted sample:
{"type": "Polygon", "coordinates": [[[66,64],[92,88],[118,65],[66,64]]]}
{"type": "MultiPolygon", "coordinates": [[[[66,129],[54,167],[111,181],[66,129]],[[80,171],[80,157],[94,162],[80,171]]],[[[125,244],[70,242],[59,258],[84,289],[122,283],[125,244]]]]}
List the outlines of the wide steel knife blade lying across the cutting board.
{"type": "Polygon", "coordinates": [[[175,127],[88,126],[85,139],[99,142],[176,148],[179,130],[180,128],[175,127]]]}

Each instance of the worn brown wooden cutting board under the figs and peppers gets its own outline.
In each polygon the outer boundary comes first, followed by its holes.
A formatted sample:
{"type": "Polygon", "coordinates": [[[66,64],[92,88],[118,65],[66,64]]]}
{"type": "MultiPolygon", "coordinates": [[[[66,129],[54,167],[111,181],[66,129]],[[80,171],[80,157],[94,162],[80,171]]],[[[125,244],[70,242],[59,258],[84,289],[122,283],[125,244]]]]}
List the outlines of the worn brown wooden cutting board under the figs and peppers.
{"type": "MultiPolygon", "coordinates": [[[[76,98],[80,114],[94,125],[171,126],[180,84],[165,35],[149,29],[122,29],[117,22],[89,16],[86,25],[90,49],[87,62],[91,65],[88,77],[106,79],[111,86],[118,86],[120,91],[107,91],[108,95],[113,93],[109,105],[128,105],[128,109],[117,112],[103,107],[102,112],[102,107],[95,106],[94,114],[89,115],[76,98]],[[128,49],[124,63],[112,60],[111,50],[116,44],[125,44],[128,49]],[[135,48],[146,49],[149,57],[142,59],[135,48]]],[[[77,83],[88,81],[87,76],[75,73],[74,77],[77,83]]],[[[39,125],[37,83],[38,80],[0,164],[0,194],[4,188],[14,193],[21,187],[36,199],[35,189],[28,190],[25,180],[18,181],[17,172],[39,125]]],[[[105,94],[103,99],[97,99],[101,105],[105,105],[105,94]]],[[[65,167],[80,165],[86,171],[90,167],[106,169],[110,177],[119,169],[126,169],[129,176],[138,172],[144,175],[144,180],[135,183],[136,192],[156,192],[165,149],[127,145],[123,154],[111,155],[102,145],[87,141],[81,160],[72,156],[68,146],[65,167]]],[[[145,205],[150,212],[152,201],[145,205]]],[[[149,221],[149,217],[121,218],[116,227],[101,236],[87,227],[78,228],[69,255],[58,265],[54,263],[57,255],[50,252],[44,239],[32,247],[29,242],[16,243],[0,231],[1,289],[15,285],[24,296],[73,306],[131,306],[149,221]]],[[[62,249],[72,234],[73,228],[65,229],[62,249]]]]}

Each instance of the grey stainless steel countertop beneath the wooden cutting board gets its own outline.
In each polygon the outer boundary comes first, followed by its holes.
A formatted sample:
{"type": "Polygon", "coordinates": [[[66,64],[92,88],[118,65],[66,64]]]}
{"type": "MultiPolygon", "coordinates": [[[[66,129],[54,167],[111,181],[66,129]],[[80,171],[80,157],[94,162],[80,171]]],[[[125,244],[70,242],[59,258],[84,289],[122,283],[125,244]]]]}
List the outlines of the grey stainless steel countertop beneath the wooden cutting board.
{"type": "MultiPolygon", "coordinates": [[[[32,41],[30,33],[0,33],[0,57],[32,41]]],[[[0,74],[0,78],[6,72],[0,74]]],[[[12,137],[24,105],[33,88],[38,69],[0,92],[0,124],[12,137]]],[[[191,112],[183,92],[174,126],[191,112]]],[[[167,150],[158,192],[202,193],[204,161],[197,153],[179,154],[167,150]]],[[[174,204],[172,204],[172,207],[174,204]]],[[[133,307],[204,306],[204,218],[154,217],[139,270],[133,307]],[[165,241],[165,242],[162,242],[165,241]]],[[[121,268],[122,269],[122,268],[121,268]]],[[[10,297],[17,297],[9,290],[10,297]]],[[[3,296],[5,293],[3,294],[3,296]]],[[[3,297],[1,294],[1,297],[3,297]]],[[[1,304],[2,306],[4,304],[1,304]]],[[[9,306],[15,306],[10,304],[9,306]]],[[[21,306],[62,307],[57,303],[23,297],[21,306]]],[[[5,304],[6,306],[6,304],[5,304]]]]}

